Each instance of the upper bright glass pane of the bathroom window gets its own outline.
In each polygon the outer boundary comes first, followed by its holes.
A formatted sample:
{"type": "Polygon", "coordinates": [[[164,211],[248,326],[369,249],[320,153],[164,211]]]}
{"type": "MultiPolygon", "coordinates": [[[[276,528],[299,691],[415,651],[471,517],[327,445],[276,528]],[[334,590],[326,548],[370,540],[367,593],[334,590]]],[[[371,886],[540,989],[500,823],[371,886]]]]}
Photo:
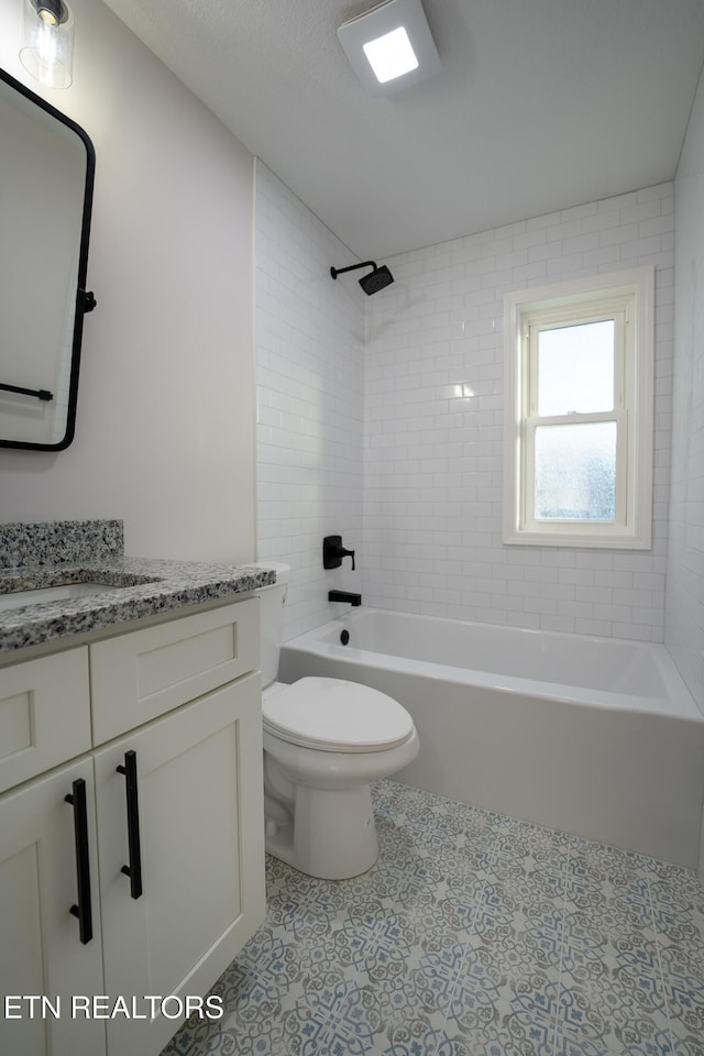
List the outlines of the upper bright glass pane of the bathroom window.
{"type": "Polygon", "coordinates": [[[614,320],[540,330],[538,414],[614,408],[614,320]]]}

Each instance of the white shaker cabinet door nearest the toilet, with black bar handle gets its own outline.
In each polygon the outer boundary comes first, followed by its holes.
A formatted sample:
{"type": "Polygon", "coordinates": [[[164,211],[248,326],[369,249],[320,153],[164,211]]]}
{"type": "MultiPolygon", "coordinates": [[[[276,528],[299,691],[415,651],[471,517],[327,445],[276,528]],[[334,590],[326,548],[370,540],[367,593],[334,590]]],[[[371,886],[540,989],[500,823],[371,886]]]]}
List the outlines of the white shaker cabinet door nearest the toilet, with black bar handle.
{"type": "Polygon", "coordinates": [[[147,1015],[108,1021],[108,1049],[153,1056],[185,1016],[174,999],[152,1018],[143,999],[205,994],[264,919],[258,672],[112,741],[95,766],[106,992],[147,1015]],[[121,772],[133,763],[141,893],[121,772]]]}

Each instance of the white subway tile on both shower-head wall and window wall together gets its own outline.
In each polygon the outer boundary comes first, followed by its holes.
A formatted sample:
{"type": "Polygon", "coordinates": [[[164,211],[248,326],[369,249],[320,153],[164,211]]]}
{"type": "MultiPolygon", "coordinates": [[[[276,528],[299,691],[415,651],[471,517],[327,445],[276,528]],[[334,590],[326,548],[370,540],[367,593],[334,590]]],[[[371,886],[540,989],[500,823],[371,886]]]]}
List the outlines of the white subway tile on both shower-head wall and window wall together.
{"type": "Polygon", "coordinates": [[[292,564],[286,638],[364,604],[662,641],[671,443],[673,187],[662,184],[385,260],[354,255],[257,163],[258,559],[292,564]],[[648,552],[504,547],[503,298],[656,265],[656,469],[648,552]],[[323,572],[324,535],[358,551],[323,572]]]}

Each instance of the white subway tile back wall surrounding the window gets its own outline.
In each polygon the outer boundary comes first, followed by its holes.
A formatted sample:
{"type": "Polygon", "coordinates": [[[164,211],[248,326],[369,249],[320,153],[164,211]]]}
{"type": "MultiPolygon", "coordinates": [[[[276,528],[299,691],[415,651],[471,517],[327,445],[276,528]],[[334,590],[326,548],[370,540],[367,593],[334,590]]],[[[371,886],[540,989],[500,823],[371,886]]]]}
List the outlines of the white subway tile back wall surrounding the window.
{"type": "Polygon", "coordinates": [[[386,262],[396,283],[366,316],[366,603],[662,640],[673,224],[663,184],[386,262]],[[640,264],[656,265],[652,551],[505,547],[504,294],[640,264]]]}

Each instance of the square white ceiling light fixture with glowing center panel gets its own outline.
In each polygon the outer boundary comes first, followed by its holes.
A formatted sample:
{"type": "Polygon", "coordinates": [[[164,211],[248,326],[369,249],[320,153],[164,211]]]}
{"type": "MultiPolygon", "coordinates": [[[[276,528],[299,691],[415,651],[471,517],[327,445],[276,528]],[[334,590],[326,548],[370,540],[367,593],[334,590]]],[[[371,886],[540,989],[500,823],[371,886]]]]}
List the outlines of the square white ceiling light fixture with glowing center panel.
{"type": "Polygon", "coordinates": [[[440,69],[420,0],[386,0],[344,22],[338,37],[354,73],[374,95],[399,91],[440,69]]]}

